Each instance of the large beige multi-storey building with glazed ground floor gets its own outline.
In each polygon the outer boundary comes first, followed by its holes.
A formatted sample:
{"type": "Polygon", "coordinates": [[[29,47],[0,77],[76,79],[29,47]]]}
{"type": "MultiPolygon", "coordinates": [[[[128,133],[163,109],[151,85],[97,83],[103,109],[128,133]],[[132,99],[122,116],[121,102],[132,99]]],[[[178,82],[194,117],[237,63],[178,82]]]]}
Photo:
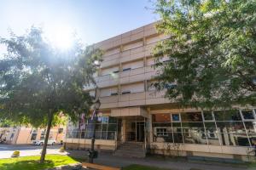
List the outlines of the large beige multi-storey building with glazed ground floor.
{"type": "MultiPolygon", "coordinates": [[[[256,139],[255,107],[199,111],[179,108],[164,98],[164,91],[155,92],[152,48],[165,38],[153,23],[96,43],[105,51],[96,74],[102,103],[96,148],[122,156],[151,152],[249,161],[256,139]]],[[[95,93],[92,86],[85,90],[95,93]]],[[[65,145],[89,149],[90,137],[90,119],[70,123],[65,145]]]]}

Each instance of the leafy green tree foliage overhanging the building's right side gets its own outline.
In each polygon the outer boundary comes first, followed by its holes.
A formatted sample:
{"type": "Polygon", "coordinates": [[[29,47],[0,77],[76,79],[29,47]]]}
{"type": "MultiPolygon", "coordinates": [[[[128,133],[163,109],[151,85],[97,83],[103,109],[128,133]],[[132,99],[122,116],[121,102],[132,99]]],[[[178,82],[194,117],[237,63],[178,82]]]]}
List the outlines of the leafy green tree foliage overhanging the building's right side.
{"type": "Polygon", "coordinates": [[[255,105],[255,0],[158,0],[154,7],[157,30],[170,36],[154,48],[158,90],[181,105],[255,105]]]}

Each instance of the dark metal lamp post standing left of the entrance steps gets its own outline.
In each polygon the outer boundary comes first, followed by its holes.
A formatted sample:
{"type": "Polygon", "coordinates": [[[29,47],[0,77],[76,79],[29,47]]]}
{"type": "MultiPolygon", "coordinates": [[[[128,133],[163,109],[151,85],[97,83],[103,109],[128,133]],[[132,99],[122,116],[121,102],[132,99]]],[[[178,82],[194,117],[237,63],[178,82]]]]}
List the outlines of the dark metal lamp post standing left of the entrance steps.
{"type": "MultiPolygon", "coordinates": [[[[96,98],[97,98],[97,95],[96,95],[97,90],[98,90],[98,88],[96,87],[96,93],[95,93],[96,98]]],[[[92,131],[91,145],[90,145],[90,150],[89,150],[89,162],[90,163],[93,163],[93,159],[96,158],[98,155],[97,151],[94,150],[94,144],[95,144],[95,137],[96,137],[96,121],[97,121],[96,119],[97,119],[97,114],[100,109],[100,106],[101,106],[100,99],[97,98],[95,101],[95,105],[94,105],[94,111],[91,116],[91,120],[93,122],[93,124],[92,124],[93,131],[92,131]]]]}

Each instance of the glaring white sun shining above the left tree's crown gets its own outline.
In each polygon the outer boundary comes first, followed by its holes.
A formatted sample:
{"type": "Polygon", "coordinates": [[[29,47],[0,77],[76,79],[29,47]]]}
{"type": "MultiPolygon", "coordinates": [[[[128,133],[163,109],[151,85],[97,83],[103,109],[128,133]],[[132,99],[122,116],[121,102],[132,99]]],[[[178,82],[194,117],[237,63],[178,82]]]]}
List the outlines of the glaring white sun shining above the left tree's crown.
{"type": "Polygon", "coordinates": [[[68,26],[55,26],[49,31],[48,37],[55,48],[67,50],[73,45],[74,31],[68,26]]]}

